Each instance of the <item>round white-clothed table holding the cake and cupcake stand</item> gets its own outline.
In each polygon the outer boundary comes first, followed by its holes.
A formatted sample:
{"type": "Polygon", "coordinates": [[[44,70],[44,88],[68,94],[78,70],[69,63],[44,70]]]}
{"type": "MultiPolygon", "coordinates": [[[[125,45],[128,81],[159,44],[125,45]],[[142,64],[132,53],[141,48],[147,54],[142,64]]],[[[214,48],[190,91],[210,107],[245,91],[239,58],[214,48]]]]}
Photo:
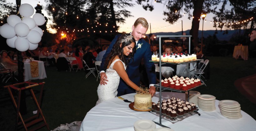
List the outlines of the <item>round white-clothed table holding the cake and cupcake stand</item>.
{"type": "MultiPolygon", "coordinates": [[[[134,95],[135,93],[121,97],[133,102],[134,95]]],[[[152,102],[157,103],[159,95],[159,92],[156,92],[152,102]]],[[[185,93],[162,92],[162,100],[172,96],[185,99],[185,93]]],[[[200,116],[193,113],[193,115],[187,114],[175,120],[163,116],[162,124],[175,131],[249,131],[256,129],[256,121],[242,110],[243,117],[240,119],[229,119],[221,115],[218,102],[219,100],[215,100],[216,110],[214,111],[199,109],[200,116]]],[[[129,104],[116,97],[96,105],[86,114],[80,131],[132,131],[134,130],[134,123],[140,119],[148,119],[159,123],[158,113],[135,111],[129,108],[129,104]]],[[[160,127],[156,125],[156,128],[160,127]]]]}

